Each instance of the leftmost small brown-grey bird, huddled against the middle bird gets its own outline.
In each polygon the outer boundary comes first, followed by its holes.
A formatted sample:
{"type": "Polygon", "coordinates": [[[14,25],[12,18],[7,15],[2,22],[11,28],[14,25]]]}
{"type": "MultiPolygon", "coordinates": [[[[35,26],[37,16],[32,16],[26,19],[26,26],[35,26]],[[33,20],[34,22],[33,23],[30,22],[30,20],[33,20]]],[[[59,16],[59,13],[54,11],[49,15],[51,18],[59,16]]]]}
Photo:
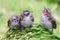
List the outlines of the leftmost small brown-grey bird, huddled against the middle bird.
{"type": "Polygon", "coordinates": [[[20,27],[20,17],[19,15],[12,15],[8,20],[8,27],[11,29],[18,29],[20,27]]]}

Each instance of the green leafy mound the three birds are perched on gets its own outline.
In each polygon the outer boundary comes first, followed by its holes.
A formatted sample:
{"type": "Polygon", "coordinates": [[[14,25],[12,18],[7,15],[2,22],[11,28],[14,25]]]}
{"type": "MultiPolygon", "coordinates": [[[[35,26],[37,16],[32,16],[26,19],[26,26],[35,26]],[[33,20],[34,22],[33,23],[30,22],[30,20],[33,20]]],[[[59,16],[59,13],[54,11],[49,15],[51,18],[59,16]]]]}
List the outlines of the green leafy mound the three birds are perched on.
{"type": "MultiPolygon", "coordinates": [[[[42,28],[39,24],[34,24],[28,30],[10,30],[7,32],[6,40],[59,40],[60,37],[51,34],[51,30],[42,28]]],[[[1,40],[2,40],[1,39],[1,40]]]]}

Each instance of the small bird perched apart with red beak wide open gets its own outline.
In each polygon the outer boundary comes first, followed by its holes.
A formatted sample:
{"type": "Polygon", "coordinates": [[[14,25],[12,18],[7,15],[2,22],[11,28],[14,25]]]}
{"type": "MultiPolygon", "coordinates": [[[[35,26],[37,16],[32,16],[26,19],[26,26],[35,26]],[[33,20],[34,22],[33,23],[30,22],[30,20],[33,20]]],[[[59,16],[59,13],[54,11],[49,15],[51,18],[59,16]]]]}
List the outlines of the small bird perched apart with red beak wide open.
{"type": "Polygon", "coordinates": [[[40,19],[40,23],[43,26],[43,28],[52,29],[52,31],[53,28],[56,29],[56,20],[52,16],[51,10],[49,8],[44,8],[42,10],[42,17],[40,19]]]}

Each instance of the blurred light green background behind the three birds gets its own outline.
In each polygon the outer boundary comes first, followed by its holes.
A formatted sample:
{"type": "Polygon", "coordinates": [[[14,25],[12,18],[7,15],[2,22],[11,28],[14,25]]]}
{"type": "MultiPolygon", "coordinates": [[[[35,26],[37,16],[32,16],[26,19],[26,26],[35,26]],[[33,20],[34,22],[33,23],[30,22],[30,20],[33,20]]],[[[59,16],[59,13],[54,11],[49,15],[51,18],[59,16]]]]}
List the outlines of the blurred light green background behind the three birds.
{"type": "Polygon", "coordinates": [[[60,35],[60,0],[0,0],[0,38],[7,31],[7,21],[12,14],[20,15],[23,10],[30,10],[34,23],[38,24],[44,7],[51,9],[57,21],[54,33],[60,35]]]}

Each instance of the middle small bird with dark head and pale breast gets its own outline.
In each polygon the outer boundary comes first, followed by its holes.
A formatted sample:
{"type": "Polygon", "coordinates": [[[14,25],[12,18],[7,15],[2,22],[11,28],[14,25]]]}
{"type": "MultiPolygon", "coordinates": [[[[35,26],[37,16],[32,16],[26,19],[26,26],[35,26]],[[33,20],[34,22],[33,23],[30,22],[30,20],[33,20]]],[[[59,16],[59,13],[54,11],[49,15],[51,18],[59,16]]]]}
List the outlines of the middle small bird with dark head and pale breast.
{"type": "Polygon", "coordinates": [[[32,12],[29,10],[24,10],[23,13],[20,15],[21,18],[21,25],[23,27],[31,27],[34,22],[34,17],[32,15],[32,12]]]}

